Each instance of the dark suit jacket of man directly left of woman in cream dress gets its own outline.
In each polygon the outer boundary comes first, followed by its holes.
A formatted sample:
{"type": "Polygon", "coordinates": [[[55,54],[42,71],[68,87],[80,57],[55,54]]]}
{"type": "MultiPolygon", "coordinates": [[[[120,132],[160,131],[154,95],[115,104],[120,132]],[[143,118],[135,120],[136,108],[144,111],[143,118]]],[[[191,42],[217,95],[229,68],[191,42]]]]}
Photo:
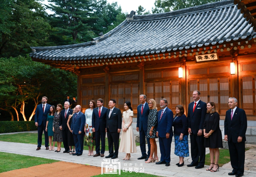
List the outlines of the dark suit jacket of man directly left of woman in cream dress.
{"type": "Polygon", "coordinates": [[[110,132],[117,132],[117,129],[122,129],[122,114],[121,110],[118,108],[114,108],[111,112],[110,117],[108,117],[110,109],[107,110],[107,123],[106,128],[110,132]]]}

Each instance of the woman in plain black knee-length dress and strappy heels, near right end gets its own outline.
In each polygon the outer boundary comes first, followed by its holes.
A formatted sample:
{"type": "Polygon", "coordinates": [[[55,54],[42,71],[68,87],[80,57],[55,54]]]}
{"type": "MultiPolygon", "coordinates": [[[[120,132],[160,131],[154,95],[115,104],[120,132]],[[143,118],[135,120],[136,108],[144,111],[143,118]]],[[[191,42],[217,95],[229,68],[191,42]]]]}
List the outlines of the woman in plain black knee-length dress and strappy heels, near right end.
{"type": "Polygon", "coordinates": [[[222,146],[222,135],[219,128],[219,114],[216,112],[215,103],[207,103],[207,114],[204,121],[204,145],[210,149],[211,165],[207,171],[215,172],[219,169],[219,148],[222,146]],[[215,163],[214,163],[215,155],[215,163]]]}

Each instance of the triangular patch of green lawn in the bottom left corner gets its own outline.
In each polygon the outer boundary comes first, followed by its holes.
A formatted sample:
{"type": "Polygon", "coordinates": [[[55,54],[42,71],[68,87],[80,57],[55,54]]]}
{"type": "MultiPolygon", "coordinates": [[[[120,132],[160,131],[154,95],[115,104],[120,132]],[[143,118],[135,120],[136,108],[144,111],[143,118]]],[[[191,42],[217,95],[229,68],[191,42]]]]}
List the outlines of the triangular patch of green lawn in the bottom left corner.
{"type": "Polygon", "coordinates": [[[14,169],[27,168],[41,164],[59,162],[58,160],[31,157],[27,155],[0,152],[0,173],[14,169]]]}

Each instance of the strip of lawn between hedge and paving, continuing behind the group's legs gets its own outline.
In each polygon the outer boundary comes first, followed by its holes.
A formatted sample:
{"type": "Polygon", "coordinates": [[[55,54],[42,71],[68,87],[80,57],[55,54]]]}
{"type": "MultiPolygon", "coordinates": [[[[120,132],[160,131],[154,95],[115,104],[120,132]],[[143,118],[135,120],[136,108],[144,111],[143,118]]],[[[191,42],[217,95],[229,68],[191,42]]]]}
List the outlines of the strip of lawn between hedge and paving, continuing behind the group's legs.
{"type": "MultiPolygon", "coordinates": [[[[0,141],[37,145],[37,133],[17,133],[17,134],[0,135],[0,141]]],[[[119,143],[120,143],[120,139],[119,139],[119,143]]],[[[136,146],[139,146],[139,145],[140,145],[139,143],[136,143],[136,146]]],[[[43,147],[44,147],[44,135],[42,137],[42,148],[43,147]]],[[[55,143],[55,147],[57,147],[57,143],[55,143]]],[[[61,147],[64,148],[63,143],[61,144],[61,147]]],[[[84,150],[88,150],[88,147],[84,146],[84,150]]],[[[106,138],[105,150],[108,151],[107,138],[106,138]]]]}

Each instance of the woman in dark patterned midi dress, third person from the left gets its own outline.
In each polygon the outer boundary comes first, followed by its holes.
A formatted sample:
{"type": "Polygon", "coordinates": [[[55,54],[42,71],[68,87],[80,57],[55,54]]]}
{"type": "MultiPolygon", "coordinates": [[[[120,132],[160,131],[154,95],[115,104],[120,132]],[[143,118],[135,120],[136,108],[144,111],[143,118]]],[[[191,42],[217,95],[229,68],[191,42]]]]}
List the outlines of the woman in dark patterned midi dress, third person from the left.
{"type": "Polygon", "coordinates": [[[52,130],[53,130],[53,141],[57,141],[57,150],[54,152],[60,152],[61,142],[63,142],[62,139],[62,130],[59,127],[59,120],[60,120],[60,111],[62,110],[62,105],[58,104],[57,112],[54,113],[54,118],[52,122],[52,130]]]}

